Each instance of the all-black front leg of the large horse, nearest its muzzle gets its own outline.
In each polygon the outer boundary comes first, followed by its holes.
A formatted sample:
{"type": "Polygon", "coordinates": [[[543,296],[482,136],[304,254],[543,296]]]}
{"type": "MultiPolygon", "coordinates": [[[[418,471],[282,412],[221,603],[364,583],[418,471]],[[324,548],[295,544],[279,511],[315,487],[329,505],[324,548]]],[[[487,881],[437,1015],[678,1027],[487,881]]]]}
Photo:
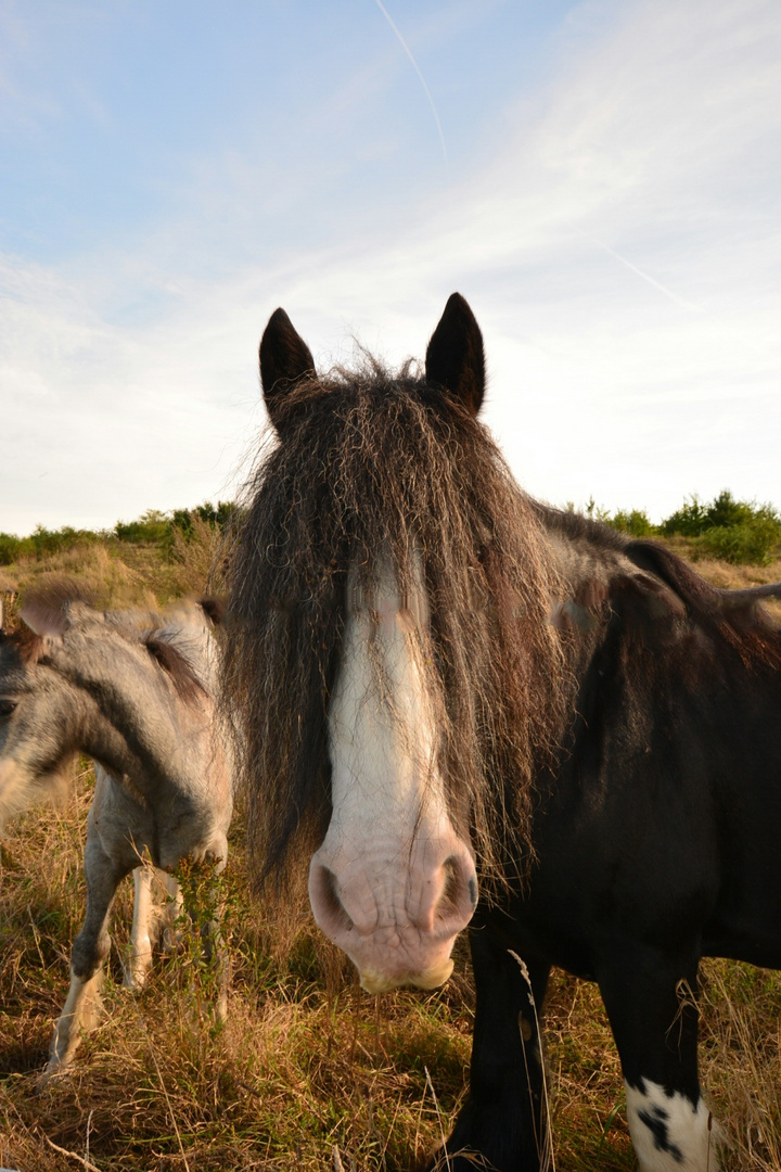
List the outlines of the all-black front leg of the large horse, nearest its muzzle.
{"type": "Polygon", "coordinates": [[[431,1167],[474,1172],[472,1152],[498,1172],[537,1172],[547,1146],[537,1014],[550,966],[519,965],[487,926],[472,929],[470,942],[477,994],[470,1095],[447,1161],[439,1152],[431,1167]]]}

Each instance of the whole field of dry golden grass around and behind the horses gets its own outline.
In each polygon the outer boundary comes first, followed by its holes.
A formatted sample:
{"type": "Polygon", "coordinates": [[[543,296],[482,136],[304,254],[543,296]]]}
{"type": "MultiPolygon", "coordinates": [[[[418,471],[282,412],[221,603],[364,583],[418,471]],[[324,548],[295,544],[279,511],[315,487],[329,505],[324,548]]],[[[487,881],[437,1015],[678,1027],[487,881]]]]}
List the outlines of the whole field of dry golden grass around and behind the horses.
{"type": "MultiPolygon", "coordinates": [[[[20,592],[53,578],[80,580],[101,606],[156,606],[203,591],[226,519],[219,507],[179,515],[176,524],[148,515],[124,537],[70,531],[70,540],[49,534],[39,548],[0,541],[6,621],[20,592]],[[155,533],[144,529],[151,524],[155,533]]],[[[744,515],[734,522],[742,536],[708,541],[708,507],[692,502],[684,517],[692,531],[666,538],[719,586],[781,579],[777,536],[754,561],[741,554],[760,543],[760,530],[770,532],[775,513],[753,529],[744,515]],[[729,560],[717,557],[725,550],[729,560]]],[[[644,516],[612,519],[633,531],[644,516]]],[[[30,810],[0,843],[0,1167],[393,1172],[424,1160],[467,1088],[474,1003],[465,941],[445,988],[369,996],[309,919],[280,915],[253,897],[240,806],[224,875],[181,874],[194,919],[180,921],[178,946],[157,958],[141,994],[122,986],[132,914],[132,886],[123,885],[102,1023],[70,1072],[39,1085],[83,917],[93,785],[89,762],[77,762],[61,804],[30,810]],[[215,900],[232,958],[224,1026],[198,932],[215,900]]],[[[725,1167],[781,1172],[781,974],[706,961],[700,1008],[701,1076],[726,1136],[725,1167]]],[[[592,984],[554,975],[543,1047],[550,1168],[632,1170],[621,1069],[592,984]]]]}

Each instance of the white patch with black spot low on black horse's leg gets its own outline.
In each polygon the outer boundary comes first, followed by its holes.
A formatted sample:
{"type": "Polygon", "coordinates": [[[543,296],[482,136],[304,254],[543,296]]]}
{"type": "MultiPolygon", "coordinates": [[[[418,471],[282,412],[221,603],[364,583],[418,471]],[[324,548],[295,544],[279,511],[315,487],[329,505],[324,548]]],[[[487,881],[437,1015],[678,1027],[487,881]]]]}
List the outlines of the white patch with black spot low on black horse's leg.
{"type": "Polygon", "coordinates": [[[694,1105],[648,1078],[639,1089],[624,1085],[640,1172],[719,1172],[718,1131],[703,1098],[694,1105]]]}

